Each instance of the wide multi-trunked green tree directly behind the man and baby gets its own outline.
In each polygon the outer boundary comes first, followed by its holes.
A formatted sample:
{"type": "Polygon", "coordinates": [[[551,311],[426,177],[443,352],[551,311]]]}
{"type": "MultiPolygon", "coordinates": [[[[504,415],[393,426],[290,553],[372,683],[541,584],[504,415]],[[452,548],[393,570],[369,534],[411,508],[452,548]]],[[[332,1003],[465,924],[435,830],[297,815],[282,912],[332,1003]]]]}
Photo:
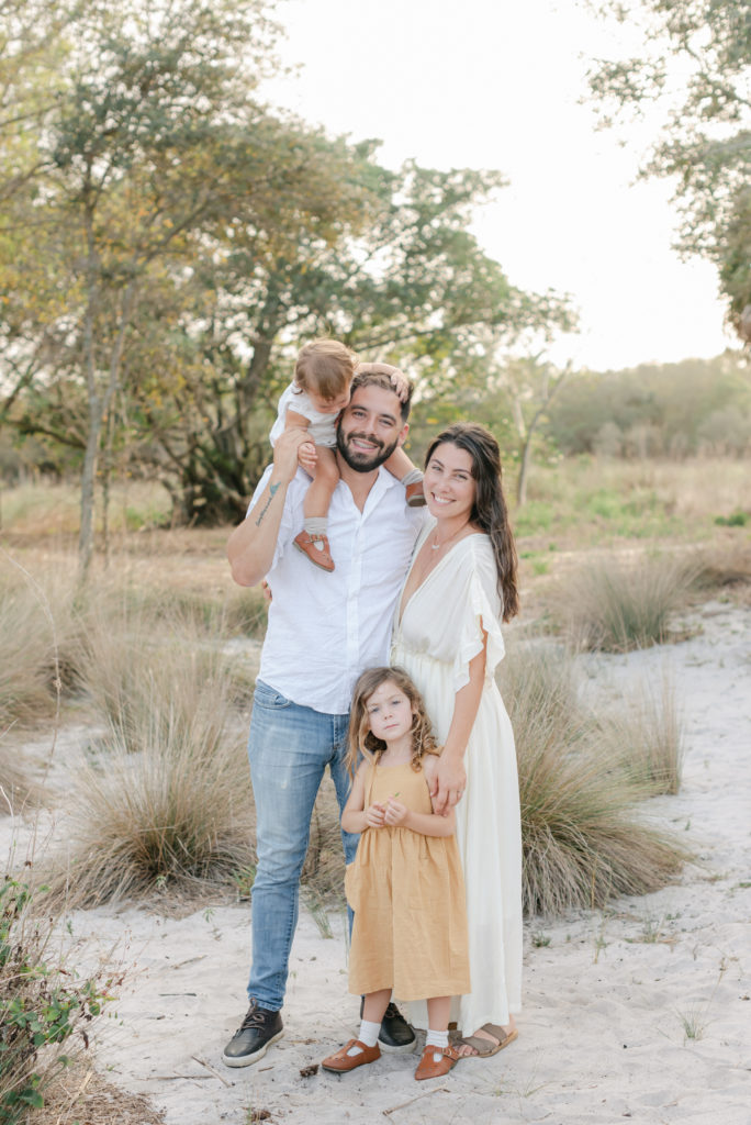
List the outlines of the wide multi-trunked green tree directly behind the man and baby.
{"type": "MultiPolygon", "coordinates": [[[[331,163],[331,147],[324,155],[331,163]]],[[[368,358],[408,363],[423,398],[455,402],[487,386],[503,344],[571,325],[563,298],[512,286],[467,230],[472,209],[503,183],[498,173],[411,162],[391,172],[373,155],[371,144],[350,150],[346,176],[360,206],[356,223],[340,214],[335,240],[300,226],[263,254],[238,231],[218,261],[197,268],[212,307],[186,318],[183,340],[211,375],[194,367],[181,411],[168,395],[171,422],[156,426],[165,477],[180,474],[184,519],[242,518],[269,457],[273,404],[306,338],[335,335],[368,358]],[[189,428],[188,417],[201,424],[189,428]]]]}

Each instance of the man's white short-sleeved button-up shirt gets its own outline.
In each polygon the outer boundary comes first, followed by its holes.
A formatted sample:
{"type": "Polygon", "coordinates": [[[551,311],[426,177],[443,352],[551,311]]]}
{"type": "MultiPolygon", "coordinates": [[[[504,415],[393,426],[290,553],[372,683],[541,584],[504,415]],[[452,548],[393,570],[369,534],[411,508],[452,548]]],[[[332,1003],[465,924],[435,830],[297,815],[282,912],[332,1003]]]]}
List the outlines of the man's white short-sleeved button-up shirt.
{"type": "MultiPolygon", "coordinates": [[[[251,512],[270,475],[271,467],[259,482],[251,512]]],[[[383,468],[362,512],[340,480],[328,512],[336,569],[328,573],[292,543],[302,531],[309,484],[298,469],[287,489],[266,575],[273,600],[259,677],[300,706],[344,714],[360,673],[388,664],[393,611],[425,508],[407,507],[402,486],[383,468]]]]}

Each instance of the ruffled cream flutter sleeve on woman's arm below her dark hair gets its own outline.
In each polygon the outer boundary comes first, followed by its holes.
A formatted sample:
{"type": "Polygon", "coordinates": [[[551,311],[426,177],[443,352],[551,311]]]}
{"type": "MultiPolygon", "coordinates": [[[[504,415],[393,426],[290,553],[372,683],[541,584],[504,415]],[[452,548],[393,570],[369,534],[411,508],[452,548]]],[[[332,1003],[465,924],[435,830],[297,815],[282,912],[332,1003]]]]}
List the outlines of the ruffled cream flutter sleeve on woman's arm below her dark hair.
{"type": "Polygon", "coordinates": [[[469,683],[470,660],[482,651],[482,632],[488,634],[486,680],[492,680],[506,651],[500,631],[503,604],[498,594],[498,572],[490,542],[472,537],[465,560],[463,583],[454,596],[461,602],[459,637],[453,663],[453,688],[461,691],[469,683]]]}

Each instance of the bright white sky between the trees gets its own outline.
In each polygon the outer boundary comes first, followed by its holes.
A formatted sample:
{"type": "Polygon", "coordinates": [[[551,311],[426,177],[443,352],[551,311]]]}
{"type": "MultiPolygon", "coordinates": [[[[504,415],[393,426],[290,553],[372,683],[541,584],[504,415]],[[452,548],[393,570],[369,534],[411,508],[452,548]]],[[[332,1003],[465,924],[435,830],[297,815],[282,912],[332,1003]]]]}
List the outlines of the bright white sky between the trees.
{"type": "Polygon", "coordinates": [[[286,0],[279,17],[301,71],[269,100],[329,134],[381,138],[389,166],[505,173],[474,231],[515,285],[573,297],[581,332],[554,361],[603,370],[738,346],[714,268],[671,250],[669,184],[634,183],[655,123],[624,147],[578,104],[588,57],[627,30],[576,0],[286,0]]]}

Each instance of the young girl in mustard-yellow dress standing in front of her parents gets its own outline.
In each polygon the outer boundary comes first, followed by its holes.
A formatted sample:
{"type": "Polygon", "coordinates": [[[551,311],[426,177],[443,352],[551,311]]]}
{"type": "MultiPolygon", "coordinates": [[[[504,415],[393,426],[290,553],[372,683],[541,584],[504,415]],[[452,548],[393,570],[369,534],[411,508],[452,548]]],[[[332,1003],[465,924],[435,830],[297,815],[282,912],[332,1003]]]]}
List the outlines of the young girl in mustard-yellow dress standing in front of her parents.
{"type": "Polygon", "coordinates": [[[459,1059],[449,1046],[451,997],[470,990],[464,881],[454,813],[433,812],[423,768],[440,752],[417,688],[400,668],[371,668],[354,687],[354,774],[342,828],[361,832],[345,875],[354,911],[350,992],[364,994],[360,1036],[322,1063],[338,1073],[380,1058],[378,1033],[391,992],[427,999],[428,1032],[415,1078],[437,1078],[459,1059]]]}

